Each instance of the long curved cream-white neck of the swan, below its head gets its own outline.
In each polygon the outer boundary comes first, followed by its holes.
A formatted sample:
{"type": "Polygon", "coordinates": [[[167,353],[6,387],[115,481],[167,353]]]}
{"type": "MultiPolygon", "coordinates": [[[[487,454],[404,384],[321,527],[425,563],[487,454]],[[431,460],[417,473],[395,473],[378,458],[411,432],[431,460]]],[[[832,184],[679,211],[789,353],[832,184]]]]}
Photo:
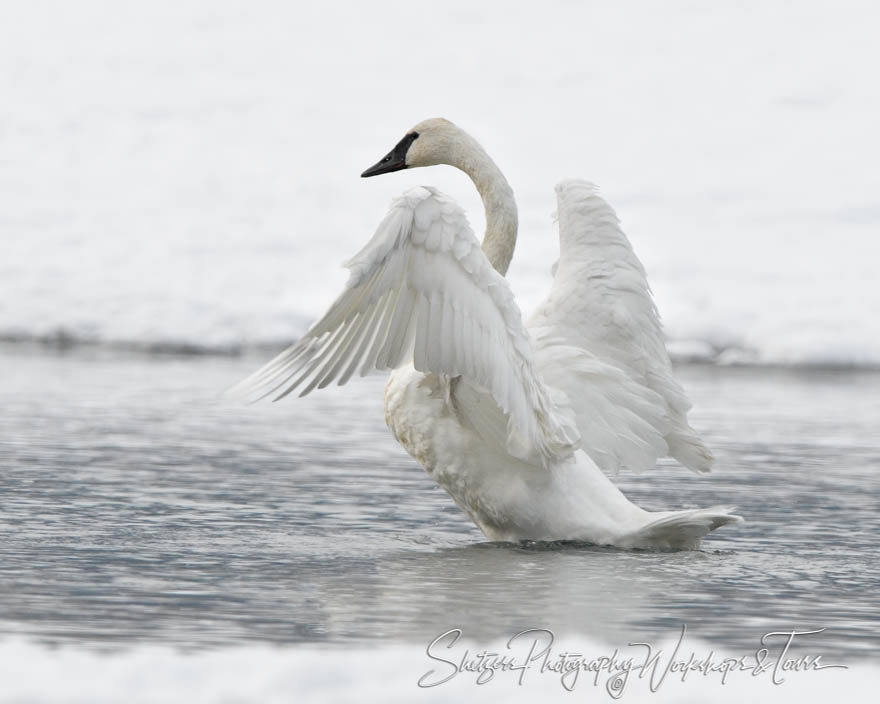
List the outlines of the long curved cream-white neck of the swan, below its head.
{"type": "Polygon", "coordinates": [[[513,257],[519,221],[513,189],[486,150],[466,132],[461,132],[452,152],[450,164],[470,176],[483,199],[486,209],[483,251],[503,276],[513,257]]]}

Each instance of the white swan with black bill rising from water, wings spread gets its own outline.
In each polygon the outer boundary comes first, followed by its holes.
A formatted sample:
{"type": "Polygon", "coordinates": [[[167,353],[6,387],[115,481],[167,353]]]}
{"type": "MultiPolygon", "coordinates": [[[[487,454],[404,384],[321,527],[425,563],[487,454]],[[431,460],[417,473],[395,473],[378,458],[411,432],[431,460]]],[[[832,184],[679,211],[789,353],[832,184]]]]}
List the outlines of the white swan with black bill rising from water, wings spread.
{"type": "Polygon", "coordinates": [[[474,138],[425,120],[361,175],[438,164],[476,186],[482,246],[451,198],[406,191],[324,317],[237,391],[277,400],[393,370],[388,427],[489,540],[697,549],[741,521],[729,506],[645,511],[607,476],[665,455],[708,472],[712,455],[688,425],[645,271],[595,187],[556,186],[560,257],[524,324],[504,278],[513,190],[474,138]]]}

